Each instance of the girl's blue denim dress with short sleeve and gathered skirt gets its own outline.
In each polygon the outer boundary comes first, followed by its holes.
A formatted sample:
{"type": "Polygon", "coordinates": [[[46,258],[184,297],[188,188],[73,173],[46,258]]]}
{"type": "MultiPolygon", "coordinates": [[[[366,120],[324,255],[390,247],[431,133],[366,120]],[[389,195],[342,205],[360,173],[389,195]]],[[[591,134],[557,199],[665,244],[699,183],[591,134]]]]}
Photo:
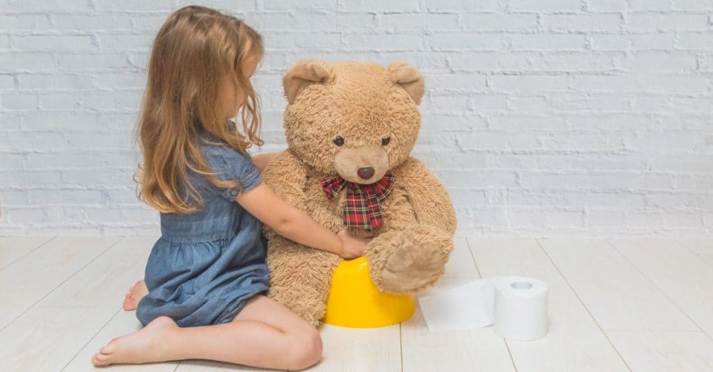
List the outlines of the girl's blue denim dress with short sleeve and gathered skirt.
{"type": "MultiPolygon", "coordinates": [[[[245,191],[260,183],[249,156],[226,145],[200,148],[219,179],[238,180],[245,191]]],[[[161,214],[161,237],[145,269],[149,292],[136,309],[144,326],[162,315],[182,327],[227,323],[252,296],[267,294],[262,222],[235,202],[240,187],[221,189],[195,173],[191,179],[204,206],[190,215],[161,214]]]]}

